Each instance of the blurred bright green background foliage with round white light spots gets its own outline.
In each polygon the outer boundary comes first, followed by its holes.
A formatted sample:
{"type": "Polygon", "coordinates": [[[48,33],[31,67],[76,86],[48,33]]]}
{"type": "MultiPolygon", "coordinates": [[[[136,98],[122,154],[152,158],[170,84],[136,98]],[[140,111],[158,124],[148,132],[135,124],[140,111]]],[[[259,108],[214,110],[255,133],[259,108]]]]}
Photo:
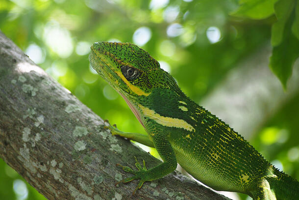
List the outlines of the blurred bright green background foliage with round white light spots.
{"type": "MultiPolygon", "coordinates": [[[[0,30],[103,119],[120,130],[144,133],[125,101],[91,68],[93,42],[137,44],[198,103],[223,84],[237,63],[272,42],[276,56],[271,67],[286,86],[298,58],[299,3],[287,0],[286,10],[280,1],[242,0],[239,6],[238,0],[0,0],[0,30]],[[275,28],[275,23],[280,24],[275,28]],[[281,52],[287,54],[281,57],[281,52]]],[[[297,89],[246,136],[275,166],[297,179],[298,113],[297,89]]],[[[44,199],[1,159],[0,186],[0,199],[44,199]]]]}

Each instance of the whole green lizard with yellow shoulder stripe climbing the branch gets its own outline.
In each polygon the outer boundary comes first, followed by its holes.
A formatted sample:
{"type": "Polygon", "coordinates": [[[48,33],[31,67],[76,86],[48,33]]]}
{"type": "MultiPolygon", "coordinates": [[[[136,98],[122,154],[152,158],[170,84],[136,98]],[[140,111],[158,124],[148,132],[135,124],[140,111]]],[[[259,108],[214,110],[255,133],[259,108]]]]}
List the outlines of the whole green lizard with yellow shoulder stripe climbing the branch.
{"type": "MultiPolygon", "coordinates": [[[[205,185],[221,191],[248,194],[253,200],[298,200],[299,182],[278,171],[242,136],[215,115],[189,99],[174,78],[144,50],[129,43],[97,42],[89,56],[92,67],[126,101],[148,135],[120,135],[155,147],[163,163],[149,170],[136,160],[138,170],[126,183],[145,181],[173,172],[177,163],[205,185]]],[[[134,191],[134,192],[135,192],[134,191]]]]}

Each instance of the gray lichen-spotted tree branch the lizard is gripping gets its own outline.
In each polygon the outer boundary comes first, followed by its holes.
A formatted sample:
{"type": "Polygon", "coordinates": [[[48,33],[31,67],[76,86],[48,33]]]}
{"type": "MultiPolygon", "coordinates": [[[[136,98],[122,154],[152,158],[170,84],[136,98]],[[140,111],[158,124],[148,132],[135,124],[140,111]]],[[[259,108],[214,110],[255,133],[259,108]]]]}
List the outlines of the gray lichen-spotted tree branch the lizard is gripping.
{"type": "Polygon", "coordinates": [[[115,186],[131,175],[117,163],[135,168],[136,156],[151,168],[160,161],[103,126],[0,32],[0,157],[47,199],[227,199],[177,171],[134,196],[137,181],[115,186]]]}

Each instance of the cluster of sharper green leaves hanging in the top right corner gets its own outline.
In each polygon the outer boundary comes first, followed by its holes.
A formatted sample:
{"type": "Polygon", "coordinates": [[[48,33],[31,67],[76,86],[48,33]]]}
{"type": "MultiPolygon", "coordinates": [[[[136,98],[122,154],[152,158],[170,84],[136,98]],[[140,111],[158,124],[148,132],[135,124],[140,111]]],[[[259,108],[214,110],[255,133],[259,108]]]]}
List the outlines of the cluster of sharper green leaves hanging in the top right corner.
{"type": "Polygon", "coordinates": [[[265,19],[275,14],[271,44],[273,54],[270,68],[284,88],[292,74],[292,66],[299,57],[299,2],[297,0],[241,0],[234,16],[265,19]]]}

